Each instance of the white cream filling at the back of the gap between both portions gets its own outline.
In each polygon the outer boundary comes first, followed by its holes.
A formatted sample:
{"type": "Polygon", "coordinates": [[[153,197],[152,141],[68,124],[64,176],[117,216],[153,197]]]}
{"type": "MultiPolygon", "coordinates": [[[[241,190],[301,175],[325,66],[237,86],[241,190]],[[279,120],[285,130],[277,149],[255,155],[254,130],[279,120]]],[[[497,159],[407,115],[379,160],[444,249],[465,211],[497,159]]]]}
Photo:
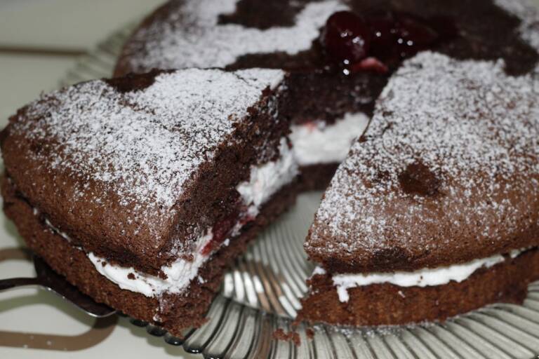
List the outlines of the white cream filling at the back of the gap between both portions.
{"type": "Polygon", "coordinates": [[[295,161],[299,165],[340,163],[367,125],[368,116],[357,113],[346,114],[331,125],[316,121],[292,126],[290,139],[295,161]]]}

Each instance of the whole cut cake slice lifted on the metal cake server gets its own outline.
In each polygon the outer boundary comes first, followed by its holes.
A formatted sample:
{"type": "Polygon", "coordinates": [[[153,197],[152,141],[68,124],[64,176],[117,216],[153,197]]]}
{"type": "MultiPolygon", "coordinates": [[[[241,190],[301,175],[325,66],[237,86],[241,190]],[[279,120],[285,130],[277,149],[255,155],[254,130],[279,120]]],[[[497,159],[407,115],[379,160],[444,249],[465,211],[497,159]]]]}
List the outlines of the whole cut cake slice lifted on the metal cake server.
{"type": "Polygon", "coordinates": [[[1,134],[6,215],[82,292],[180,335],[294,200],[285,77],[154,71],[42,95],[1,134]]]}

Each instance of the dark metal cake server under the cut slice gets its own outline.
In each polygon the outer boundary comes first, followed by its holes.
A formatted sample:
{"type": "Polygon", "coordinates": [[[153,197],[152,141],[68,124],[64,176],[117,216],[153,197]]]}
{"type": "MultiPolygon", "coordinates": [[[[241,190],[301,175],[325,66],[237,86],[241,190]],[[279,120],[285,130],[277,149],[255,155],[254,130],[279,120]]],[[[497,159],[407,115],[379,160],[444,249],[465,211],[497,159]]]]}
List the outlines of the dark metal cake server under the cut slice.
{"type": "Polygon", "coordinates": [[[17,287],[27,287],[29,285],[37,285],[46,290],[58,294],[66,302],[69,302],[77,308],[85,311],[88,316],[94,318],[105,318],[117,313],[114,309],[109,308],[105,304],[99,304],[93,301],[91,297],[79,292],[73,285],[67,282],[64,277],[55,273],[46,262],[33,256],[34,268],[36,269],[35,278],[8,278],[0,280],[0,292],[17,287]]]}

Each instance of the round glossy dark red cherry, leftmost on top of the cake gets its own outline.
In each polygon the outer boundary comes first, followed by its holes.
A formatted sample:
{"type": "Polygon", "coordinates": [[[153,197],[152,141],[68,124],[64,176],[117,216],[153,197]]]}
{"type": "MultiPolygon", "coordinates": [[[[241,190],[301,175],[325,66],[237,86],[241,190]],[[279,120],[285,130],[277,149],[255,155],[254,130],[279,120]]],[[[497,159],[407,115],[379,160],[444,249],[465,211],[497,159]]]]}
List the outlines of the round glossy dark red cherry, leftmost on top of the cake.
{"type": "Polygon", "coordinates": [[[329,57],[349,64],[367,56],[371,31],[360,16],[350,11],[339,11],[328,18],[321,41],[329,57]]]}

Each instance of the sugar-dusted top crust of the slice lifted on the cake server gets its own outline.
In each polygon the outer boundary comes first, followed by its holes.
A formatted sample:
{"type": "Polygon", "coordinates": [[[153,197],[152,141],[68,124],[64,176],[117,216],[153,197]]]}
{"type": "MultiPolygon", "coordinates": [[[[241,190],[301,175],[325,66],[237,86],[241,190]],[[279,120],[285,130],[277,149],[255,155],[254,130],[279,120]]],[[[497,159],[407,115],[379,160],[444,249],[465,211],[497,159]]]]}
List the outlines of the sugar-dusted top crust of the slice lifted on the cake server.
{"type": "Polygon", "coordinates": [[[267,69],[156,71],[42,95],[4,130],[6,170],[62,230],[158,248],[201,165],[239,141],[234,131],[283,78],[267,69]]]}

